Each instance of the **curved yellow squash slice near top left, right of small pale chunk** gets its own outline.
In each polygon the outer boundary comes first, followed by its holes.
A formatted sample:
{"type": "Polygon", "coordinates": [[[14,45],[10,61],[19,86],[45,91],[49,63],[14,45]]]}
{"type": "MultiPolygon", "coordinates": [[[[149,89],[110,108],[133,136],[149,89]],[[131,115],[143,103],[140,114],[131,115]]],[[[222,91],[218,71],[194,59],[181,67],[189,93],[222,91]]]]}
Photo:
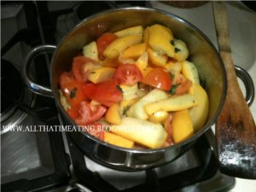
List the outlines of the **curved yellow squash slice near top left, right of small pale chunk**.
{"type": "Polygon", "coordinates": [[[126,48],[130,47],[132,44],[140,44],[142,41],[142,34],[127,35],[117,38],[103,51],[103,55],[107,58],[118,57],[126,48]]]}

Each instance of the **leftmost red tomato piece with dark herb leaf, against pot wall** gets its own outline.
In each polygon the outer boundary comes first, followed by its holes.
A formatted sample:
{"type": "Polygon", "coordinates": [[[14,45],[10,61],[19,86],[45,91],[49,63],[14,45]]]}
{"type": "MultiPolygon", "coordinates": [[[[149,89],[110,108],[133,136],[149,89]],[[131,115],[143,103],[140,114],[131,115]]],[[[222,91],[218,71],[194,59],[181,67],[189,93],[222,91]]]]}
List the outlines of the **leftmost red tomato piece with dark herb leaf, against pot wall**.
{"type": "Polygon", "coordinates": [[[86,100],[82,84],[76,81],[70,73],[64,72],[61,74],[60,84],[61,90],[71,107],[78,107],[80,102],[86,100]]]}

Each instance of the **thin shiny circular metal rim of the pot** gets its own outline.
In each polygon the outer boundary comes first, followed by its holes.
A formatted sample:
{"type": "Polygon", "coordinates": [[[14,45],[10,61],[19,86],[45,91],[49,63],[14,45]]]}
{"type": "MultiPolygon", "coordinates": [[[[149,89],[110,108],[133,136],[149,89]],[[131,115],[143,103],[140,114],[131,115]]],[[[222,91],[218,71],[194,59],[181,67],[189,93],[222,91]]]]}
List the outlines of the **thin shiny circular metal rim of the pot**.
{"type": "MultiPolygon", "coordinates": [[[[113,13],[113,12],[118,12],[118,11],[129,11],[129,10],[143,10],[143,11],[148,11],[148,12],[157,12],[157,13],[160,13],[160,14],[163,14],[163,15],[167,15],[169,17],[171,17],[172,19],[174,20],[178,20],[179,22],[183,23],[185,26],[189,26],[189,28],[191,28],[193,31],[197,32],[201,38],[203,38],[207,44],[209,44],[214,52],[214,54],[217,56],[218,58],[218,64],[219,64],[219,67],[221,68],[221,72],[223,74],[223,95],[221,96],[221,100],[220,100],[220,103],[218,105],[218,109],[216,111],[216,113],[214,113],[212,115],[212,118],[210,120],[208,120],[207,124],[204,125],[200,131],[196,131],[195,134],[192,136],[192,137],[189,137],[188,139],[184,140],[183,142],[181,143],[176,143],[176,144],[173,144],[171,146],[168,146],[168,147],[163,147],[163,148],[147,148],[147,149],[135,149],[135,148],[122,148],[122,147],[119,147],[119,146],[116,146],[116,145],[113,145],[113,144],[110,144],[110,143],[106,143],[100,139],[97,139],[96,137],[93,137],[91,136],[89,133],[87,132],[82,132],[82,131],[79,131],[80,133],[82,133],[85,137],[88,137],[89,139],[93,140],[94,142],[96,143],[101,143],[102,145],[105,145],[107,147],[110,147],[110,148],[114,148],[114,149],[117,149],[117,150],[122,150],[122,151],[125,151],[125,152],[128,152],[128,153],[135,153],[135,154],[151,154],[151,153],[155,153],[155,152],[160,152],[160,151],[166,151],[166,149],[169,149],[169,148],[180,148],[181,146],[187,144],[187,143],[191,143],[193,142],[197,137],[201,137],[201,135],[203,135],[212,125],[214,125],[216,119],[218,118],[218,114],[220,113],[221,109],[223,108],[223,105],[224,105],[224,101],[225,101],[225,97],[226,97],[226,91],[227,91],[227,77],[226,77],[226,72],[225,72],[225,68],[224,68],[224,63],[218,53],[218,50],[214,47],[214,45],[212,44],[211,40],[209,38],[207,38],[207,36],[201,32],[200,29],[198,29],[196,26],[194,26],[193,24],[191,24],[189,21],[187,20],[184,20],[183,18],[177,16],[177,15],[174,15],[172,13],[169,13],[169,12],[166,12],[165,10],[161,10],[161,9],[153,9],[153,8],[144,8],[144,7],[127,7],[127,8],[114,8],[114,9],[107,9],[107,10],[104,10],[102,12],[99,12],[99,13],[96,13],[94,15],[90,15],[89,17],[86,17],[84,18],[84,20],[81,20],[75,27],[73,27],[73,29],[69,32],[67,32],[67,34],[61,39],[61,42],[59,44],[57,44],[56,46],[56,49],[55,49],[55,53],[54,55],[52,56],[51,58],[51,61],[50,61],[50,64],[51,64],[51,67],[50,67],[50,87],[51,87],[51,90],[55,90],[55,86],[53,84],[53,67],[54,67],[54,61],[55,61],[55,54],[57,52],[57,50],[60,48],[60,45],[64,42],[64,40],[68,37],[69,34],[71,34],[74,30],[76,30],[77,28],[79,28],[79,26],[83,25],[84,22],[88,21],[88,20],[92,20],[98,16],[101,16],[101,15],[106,15],[106,14],[109,14],[109,13],[113,13]]],[[[62,115],[64,115],[64,117],[68,120],[68,122],[73,125],[73,126],[78,126],[74,121],[73,119],[71,119],[68,115],[67,115],[67,112],[64,110],[64,108],[61,106],[61,102],[59,100],[59,96],[56,94],[57,91],[53,91],[53,95],[54,95],[54,98],[55,98],[55,101],[57,103],[57,107],[61,110],[61,113],[62,115]]]]}

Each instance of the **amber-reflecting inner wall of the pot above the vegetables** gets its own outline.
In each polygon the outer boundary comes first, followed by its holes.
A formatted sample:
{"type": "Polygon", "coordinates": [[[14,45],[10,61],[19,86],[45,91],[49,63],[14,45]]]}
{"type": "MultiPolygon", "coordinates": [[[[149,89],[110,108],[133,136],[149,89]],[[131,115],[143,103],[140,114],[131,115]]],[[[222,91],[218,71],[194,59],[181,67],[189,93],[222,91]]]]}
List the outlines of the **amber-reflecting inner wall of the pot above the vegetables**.
{"type": "MultiPolygon", "coordinates": [[[[55,98],[59,98],[59,79],[64,71],[71,69],[73,56],[78,55],[85,44],[96,40],[103,32],[116,32],[130,26],[150,26],[159,23],[169,27],[175,38],[182,39],[189,48],[189,61],[194,62],[209,96],[209,114],[206,125],[196,133],[201,135],[212,125],[224,102],[226,79],[223,63],[211,42],[195,26],[160,10],[132,8],[113,9],[83,20],[73,28],[55,51],[52,60],[51,83],[55,98]]],[[[58,99],[57,99],[58,100],[58,99]]],[[[57,101],[59,108],[61,103],[57,101]]],[[[62,113],[65,113],[61,108],[62,113]]],[[[66,118],[67,117],[66,114],[66,118]]],[[[72,122],[70,120],[70,122],[72,122]]],[[[194,137],[195,137],[194,136],[194,137]]],[[[190,139],[193,139],[191,137],[190,139]]]]}

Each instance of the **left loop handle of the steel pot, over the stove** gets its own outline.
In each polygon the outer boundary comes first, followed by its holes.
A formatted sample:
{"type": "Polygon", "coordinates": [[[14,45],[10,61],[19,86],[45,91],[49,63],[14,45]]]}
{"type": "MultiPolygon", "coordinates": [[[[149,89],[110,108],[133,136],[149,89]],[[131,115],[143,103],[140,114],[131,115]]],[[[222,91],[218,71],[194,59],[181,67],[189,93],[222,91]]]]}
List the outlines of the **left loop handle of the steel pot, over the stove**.
{"type": "Polygon", "coordinates": [[[23,79],[24,83],[30,90],[32,90],[32,92],[38,95],[53,97],[53,92],[49,87],[34,83],[32,79],[30,79],[27,75],[27,67],[29,66],[33,58],[37,55],[45,52],[53,53],[55,49],[56,46],[50,44],[40,45],[33,48],[32,51],[26,56],[23,66],[21,67],[21,78],[23,79]]]}

